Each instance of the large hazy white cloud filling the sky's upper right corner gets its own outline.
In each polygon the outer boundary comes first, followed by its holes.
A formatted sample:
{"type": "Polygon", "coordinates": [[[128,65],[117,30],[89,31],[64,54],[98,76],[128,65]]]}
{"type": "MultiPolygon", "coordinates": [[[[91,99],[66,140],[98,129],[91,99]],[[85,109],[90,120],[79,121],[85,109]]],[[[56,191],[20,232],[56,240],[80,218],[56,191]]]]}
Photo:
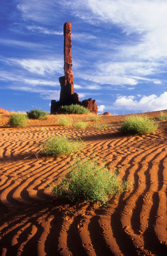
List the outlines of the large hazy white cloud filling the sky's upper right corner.
{"type": "MultiPolygon", "coordinates": [[[[167,2],[165,0],[85,0],[69,1],[73,13],[85,22],[110,24],[122,33],[138,38],[117,47],[120,58],[151,60],[167,57],[167,2]]],[[[118,53],[118,52],[117,52],[118,53]]],[[[113,55],[115,53],[112,52],[113,55]]]]}

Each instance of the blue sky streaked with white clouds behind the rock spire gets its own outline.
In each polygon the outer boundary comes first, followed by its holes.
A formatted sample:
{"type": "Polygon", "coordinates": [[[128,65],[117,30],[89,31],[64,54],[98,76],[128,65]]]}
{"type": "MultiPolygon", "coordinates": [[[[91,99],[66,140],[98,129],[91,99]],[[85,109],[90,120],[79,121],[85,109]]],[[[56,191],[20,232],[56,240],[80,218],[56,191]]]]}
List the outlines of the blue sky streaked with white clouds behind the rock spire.
{"type": "Polygon", "coordinates": [[[1,0],[0,108],[50,111],[59,100],[63,25],[75,92],[99,112],[167,109],[166,0],[1,0]]]}

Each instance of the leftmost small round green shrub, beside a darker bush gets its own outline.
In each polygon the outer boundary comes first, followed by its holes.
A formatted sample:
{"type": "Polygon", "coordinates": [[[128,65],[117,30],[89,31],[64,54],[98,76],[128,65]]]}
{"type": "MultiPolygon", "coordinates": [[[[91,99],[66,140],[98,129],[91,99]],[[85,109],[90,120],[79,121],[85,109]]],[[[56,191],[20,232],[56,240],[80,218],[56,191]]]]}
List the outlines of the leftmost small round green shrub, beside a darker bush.
{"type": "Polygon", "coordinates": [[[8,124],[11,127],[24,127],[27,125],[27,115],[22,113],[11,114],[8,124]]]}

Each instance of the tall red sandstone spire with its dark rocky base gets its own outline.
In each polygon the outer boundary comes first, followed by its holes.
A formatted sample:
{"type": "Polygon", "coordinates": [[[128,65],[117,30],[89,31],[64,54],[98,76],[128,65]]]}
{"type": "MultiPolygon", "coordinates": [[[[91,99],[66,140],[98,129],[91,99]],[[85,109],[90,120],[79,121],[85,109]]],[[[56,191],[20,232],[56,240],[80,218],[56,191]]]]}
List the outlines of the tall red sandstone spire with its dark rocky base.
{"type": "Polygon", "coordinates": [[[98,105],[96,100],[86,99],[79,100],[78,93],[74,92],[74,79],[72,70],[72,57],[71,57],[71,23],[66,22],[64,24],[64,76],[59,77],[61,84],[61,93],[59,101],[52,100],[50,114],[59,113],[59,108],[65,105],[79,104],[89,109],[92,113],[98,112],[98,105]]]}

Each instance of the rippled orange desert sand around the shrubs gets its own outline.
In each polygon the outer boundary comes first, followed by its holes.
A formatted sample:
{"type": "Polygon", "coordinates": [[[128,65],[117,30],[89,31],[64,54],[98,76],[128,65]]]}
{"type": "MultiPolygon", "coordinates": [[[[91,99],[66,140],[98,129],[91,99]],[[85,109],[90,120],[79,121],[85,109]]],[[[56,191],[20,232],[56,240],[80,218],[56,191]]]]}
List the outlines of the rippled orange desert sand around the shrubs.
{"type": "MultiPolygon", "coordinates": [[[[142,115],[156,117],[159,111],[142,115]]],[[[158,122],[156,134],[123,136],[117,126],[126,115],[102,115],[100,122],[109,124],[105,129],[63,127],[57,115],[11,128],[8,116],[1,111],[1,255],[167,255],[166,121],[158,122]],[[133,186],[108,207],[57,200],[49,184],[68,172],[73,156],[36,157],[50,134],[82,138],[82,157],[94,152],[108,168],[121,168],[121,178],[134,180],[133,186]]]]}

